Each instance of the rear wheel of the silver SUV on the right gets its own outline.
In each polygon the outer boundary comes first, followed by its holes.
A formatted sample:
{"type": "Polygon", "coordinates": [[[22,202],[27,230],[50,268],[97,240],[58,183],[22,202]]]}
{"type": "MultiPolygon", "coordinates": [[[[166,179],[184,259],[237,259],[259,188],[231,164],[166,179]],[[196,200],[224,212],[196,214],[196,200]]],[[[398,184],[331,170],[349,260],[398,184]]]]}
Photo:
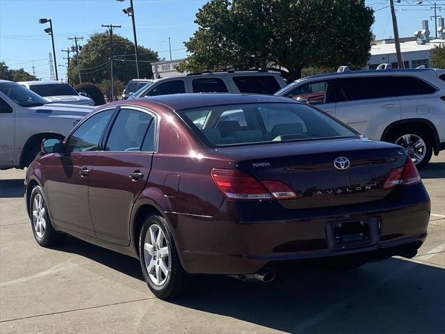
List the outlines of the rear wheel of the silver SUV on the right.
{"type": "Polygon", "coordinates": [[[417,169],[428,164],[431,159],[432,138],[430,134],[422,129],[406,128],[398,130],[390,134],[388,141],[402,146],[417,169]]]}

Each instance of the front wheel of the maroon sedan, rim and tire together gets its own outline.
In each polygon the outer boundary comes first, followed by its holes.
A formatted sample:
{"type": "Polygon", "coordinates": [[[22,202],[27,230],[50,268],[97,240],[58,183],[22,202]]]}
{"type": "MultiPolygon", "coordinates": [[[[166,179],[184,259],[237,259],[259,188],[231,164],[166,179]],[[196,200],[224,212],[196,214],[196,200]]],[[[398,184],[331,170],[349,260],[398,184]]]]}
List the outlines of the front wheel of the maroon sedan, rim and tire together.
{"type": "Polygon", "coordinates": [[[31,228],[35,241],[42,247],[50,247],[61,244],[65,241],[65,234],[54,230],[49,219],[47,205],[44,201],[43,190],[40,186],[35,186],[31,192],[31,202],[29,203],[31,212],[31,228]]]}

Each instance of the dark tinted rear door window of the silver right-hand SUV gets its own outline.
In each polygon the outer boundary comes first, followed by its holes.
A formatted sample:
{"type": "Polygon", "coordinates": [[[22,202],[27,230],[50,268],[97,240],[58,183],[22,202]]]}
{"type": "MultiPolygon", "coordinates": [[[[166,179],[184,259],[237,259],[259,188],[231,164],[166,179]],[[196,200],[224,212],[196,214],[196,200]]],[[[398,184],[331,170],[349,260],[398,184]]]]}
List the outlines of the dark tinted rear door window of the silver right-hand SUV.
{"type": "Polygon", "coordinates": [[[395,97],[398,86],[394,86],[392,77],[357,77],[337,80],[338,101],[356,101],[395,97]]]}

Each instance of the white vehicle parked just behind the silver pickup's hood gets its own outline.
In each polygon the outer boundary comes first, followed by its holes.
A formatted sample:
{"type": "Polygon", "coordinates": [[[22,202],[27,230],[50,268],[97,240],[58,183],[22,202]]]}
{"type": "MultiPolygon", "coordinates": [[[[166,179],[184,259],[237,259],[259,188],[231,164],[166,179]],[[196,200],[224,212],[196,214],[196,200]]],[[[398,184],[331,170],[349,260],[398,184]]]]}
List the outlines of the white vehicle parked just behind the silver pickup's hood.
{"type": "Polygon", "coordinates": [[[85,95],[81,95],[69,84],[59,81],[20,81],[26,88],[31,89],[34,93],[45,97],[50,102],[66,103],[66,104],[83,104],[86,106],[94,106],[95,102],[85,95]]]}

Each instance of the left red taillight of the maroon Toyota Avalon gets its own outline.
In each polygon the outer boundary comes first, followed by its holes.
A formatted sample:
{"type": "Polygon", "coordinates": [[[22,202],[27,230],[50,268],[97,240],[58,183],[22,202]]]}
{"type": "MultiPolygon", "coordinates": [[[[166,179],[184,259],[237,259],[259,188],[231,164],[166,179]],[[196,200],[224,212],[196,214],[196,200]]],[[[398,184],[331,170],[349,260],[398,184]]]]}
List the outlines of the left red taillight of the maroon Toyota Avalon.
{"type": "Polygon", "coordinates": [[[233,169],[213,169],[211,177],[228,200],[263,200],[297,198],[296,193],[280,181],[259,182],[233,169]]]}

